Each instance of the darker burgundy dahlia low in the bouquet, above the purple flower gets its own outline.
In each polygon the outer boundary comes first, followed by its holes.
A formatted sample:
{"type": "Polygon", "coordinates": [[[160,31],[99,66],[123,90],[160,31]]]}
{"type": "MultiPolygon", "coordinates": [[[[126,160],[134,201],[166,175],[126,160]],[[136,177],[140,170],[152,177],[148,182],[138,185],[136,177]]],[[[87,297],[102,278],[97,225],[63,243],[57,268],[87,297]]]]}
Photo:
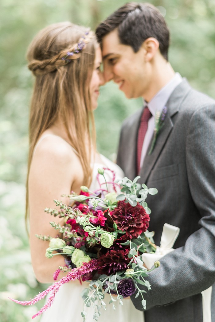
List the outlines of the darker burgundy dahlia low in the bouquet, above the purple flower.
{"type": "Polygon", "coordinates": [[[128,258],[128,250],[107,251],[102,255],[98,264],[100,266],[99,273],[110,275],[119,270],[125,270],[127,268],[130,259],[128,258]]]}

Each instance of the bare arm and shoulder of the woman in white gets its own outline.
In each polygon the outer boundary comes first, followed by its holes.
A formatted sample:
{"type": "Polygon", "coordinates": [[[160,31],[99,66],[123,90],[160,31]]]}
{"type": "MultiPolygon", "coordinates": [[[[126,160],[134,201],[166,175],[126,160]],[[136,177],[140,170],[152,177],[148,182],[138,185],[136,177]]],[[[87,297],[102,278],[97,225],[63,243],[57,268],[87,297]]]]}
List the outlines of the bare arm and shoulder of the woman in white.
{"type": "MultiPolygon", "coordinates": [[[[54,199],[68,204],[68,198],[61,195],[70,194],[71,190],[79,192],[82,180],[80,161],[66,142],[49,137],[39,144],[30,168],[29,210],[32,265],[36,278],[42,283],[52,282],[55,270],[65,264],[61,255],[47,259],[45,251],[49,242],[35,237],[35,234],[54,237],[58,231],[49,222],[64,223],[63,218],[44,213],[44,208],[55,208],[54,199]]],[[[62,276],[63,273],[59,278],[62,276]]]]}

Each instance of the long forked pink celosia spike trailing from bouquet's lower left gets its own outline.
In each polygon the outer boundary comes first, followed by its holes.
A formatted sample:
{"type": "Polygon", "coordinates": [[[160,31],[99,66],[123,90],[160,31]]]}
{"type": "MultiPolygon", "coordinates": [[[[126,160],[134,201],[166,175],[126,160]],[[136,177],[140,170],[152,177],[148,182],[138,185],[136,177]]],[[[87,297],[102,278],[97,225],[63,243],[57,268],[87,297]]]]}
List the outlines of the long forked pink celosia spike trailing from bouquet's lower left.
{"type": "Polygon", "coordinates": [[[72,271],[70,271],[66,276],[64,276],[59,281],[55,282],[53,285],[49,286],[45,291],[39,293],[37,296],[35,296],[31,301],[17,301],[13,298],[10,298],[15,303],[21,304],[21,305],[33,305],[37,303],[39,300],[44,298],[49,292],[51,292],[50,297],[48,298],[48,301],[46,304],[32,317],[37,317],[38,315],[42,314],[44,311],[47,310],[47,308],[50,308],[56,293],[58,292],[59,288],[69,281],[73,281],[75,279],[80,278],[83,274],[92,272],[93,270],[96,270],[99,268],[98,260],[91,260],[88,263],[83,263],[81,267],[74,268],[72,271]]]}

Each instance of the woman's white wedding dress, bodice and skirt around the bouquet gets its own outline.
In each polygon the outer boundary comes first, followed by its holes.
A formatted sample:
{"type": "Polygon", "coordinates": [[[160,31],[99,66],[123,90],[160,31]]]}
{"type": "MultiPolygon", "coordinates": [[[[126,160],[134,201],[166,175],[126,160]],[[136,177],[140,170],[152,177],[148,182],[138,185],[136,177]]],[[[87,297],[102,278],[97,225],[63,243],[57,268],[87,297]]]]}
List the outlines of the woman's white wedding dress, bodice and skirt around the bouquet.
{"type": "MultiPolygon", "coordinates": [[[[123,172],[119,166],[101,155],[101,164],[95,163],[93,166],[93,181],[90,190],[99,188],[96,180],[97,169],[106,167],[113,170],[116,178],[122,178],[123,172]]],[[[107,173],[108,175],[108,173],[107,173]]],[[[106,180],[108,177],[105,175],[106,180]]],[[[100,176],[101,177],[101,176],[100,176]]],[[[111,179],[111,178],[110,178],[111,179]]],[[[78,280],[71,281],[60,287],[55,296],[51,308],[48,308],[41,316],[40,322],[83,322],[81,312],[83,311],[83,299],[80,296],[81,291],[88,287],[88,282],[83,282],[82,285],[78,280]]],[[[98,317],[98,322],[143,322],[143,312],[138,311],[132,304],[131,299],[123,299],[123,306],[119,305],[119,301],[114,302],[116,309],[113,310],[113,304],[109,304],[110,295],[105,294],[104,302],[106,310],[101,308],[101,316],[98,317]]],[[[86,308],[86,322],[93,322],[93,308],[86,308]]]]}

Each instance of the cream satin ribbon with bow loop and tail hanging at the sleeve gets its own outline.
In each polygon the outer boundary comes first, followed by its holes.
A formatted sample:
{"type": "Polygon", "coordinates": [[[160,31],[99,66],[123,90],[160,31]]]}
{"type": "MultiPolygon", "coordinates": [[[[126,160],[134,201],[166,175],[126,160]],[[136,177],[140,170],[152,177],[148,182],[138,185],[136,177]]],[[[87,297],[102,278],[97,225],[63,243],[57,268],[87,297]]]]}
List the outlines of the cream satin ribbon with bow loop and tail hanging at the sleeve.
{"type": "MultiPolygon", "coordinates": [[[[180,229],[178,227],[172,226],[168,223],[163,225],[163,232],[161,235],[161,246],[157,246],[154,254],[144,253],[142,254],[142,261],[144,266],[150,270],[156,260],[160,260],[164,255],[174,251],[172,248],[178,235],[180,229]]],[[[201,292],[202,294],[202,312],[203,312],[203,322],[211,322],[211,293],[212,286],[209,289],[201,292]]]]}

